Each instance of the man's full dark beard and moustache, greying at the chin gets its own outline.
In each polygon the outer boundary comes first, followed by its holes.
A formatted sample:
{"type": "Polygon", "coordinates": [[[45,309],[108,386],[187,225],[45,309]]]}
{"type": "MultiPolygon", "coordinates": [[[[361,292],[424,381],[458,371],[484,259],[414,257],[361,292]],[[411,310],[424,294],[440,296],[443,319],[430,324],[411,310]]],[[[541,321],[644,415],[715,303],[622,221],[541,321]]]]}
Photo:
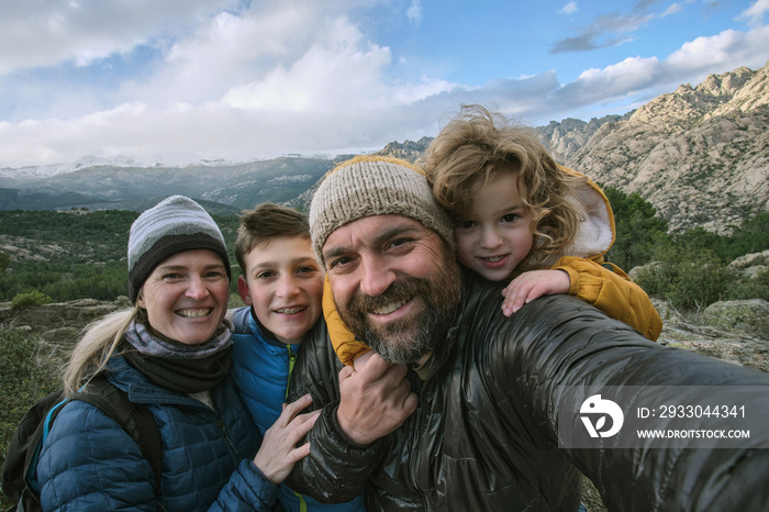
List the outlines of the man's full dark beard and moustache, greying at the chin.
{"type": "Polygon", "coordinates": [[[337,310],[356,337],[382,358],[397,365],[412,365],[446,335],[459,303],[460,288],[459,267],[449,256],[428,279],[397,280],[381,296],[361,293],[353,297],[346,309],[337,304],[337,310]],[[386,325],[369,322],[370,311],[414,298],[423,301],[419,311],[386,325]]]}

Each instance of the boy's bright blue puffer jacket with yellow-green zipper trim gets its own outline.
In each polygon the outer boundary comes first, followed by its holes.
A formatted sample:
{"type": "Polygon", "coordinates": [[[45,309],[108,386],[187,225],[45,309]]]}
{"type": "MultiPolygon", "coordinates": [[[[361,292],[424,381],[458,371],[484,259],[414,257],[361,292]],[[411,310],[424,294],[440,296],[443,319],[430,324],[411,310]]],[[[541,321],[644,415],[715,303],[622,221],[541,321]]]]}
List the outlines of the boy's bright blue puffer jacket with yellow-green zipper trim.
{"type": "MultiPolygon", "coordinates": [[[[265,336],[254,319],[250,308],[238,308],[232,312],[233,369],[232,376],[241,390],[243,401],[252,418],[264,433],[272,426],[286,402],[293,361],[301,344],[286,345],[265,336]]],[[[311,331],[325,329],[320,321],[311,331]]],[[[363,496],[347,503],[321,503],[280,486],[280,503],[291,512],[364,512],[363,496]]]]}

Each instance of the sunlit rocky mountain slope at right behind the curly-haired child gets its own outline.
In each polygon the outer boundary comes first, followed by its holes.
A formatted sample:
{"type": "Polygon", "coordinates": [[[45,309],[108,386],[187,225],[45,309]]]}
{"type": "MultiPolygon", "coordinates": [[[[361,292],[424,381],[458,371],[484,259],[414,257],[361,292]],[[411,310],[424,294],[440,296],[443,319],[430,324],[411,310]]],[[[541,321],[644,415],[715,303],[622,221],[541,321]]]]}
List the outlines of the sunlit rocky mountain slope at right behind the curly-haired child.
{"type": "Polygon", "coordinates": [[[542,131],[556,159],[638,192],[672,231],[729,233],[769,209],[769,63],[682,85],[624,116],[542,131]]]}

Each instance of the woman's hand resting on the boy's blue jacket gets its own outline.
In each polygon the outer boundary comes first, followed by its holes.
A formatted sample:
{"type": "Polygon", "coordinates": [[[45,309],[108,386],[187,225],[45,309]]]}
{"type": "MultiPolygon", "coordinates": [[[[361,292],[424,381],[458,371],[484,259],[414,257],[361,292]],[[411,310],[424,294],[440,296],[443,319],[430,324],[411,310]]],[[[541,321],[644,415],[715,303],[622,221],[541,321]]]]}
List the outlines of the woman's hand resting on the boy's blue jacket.
{"type": "Polygon", "coordinates": [[[254,457],[254,465],[272,482],[280,483],[289,476],[293,465],[310,454],[310,443],[297,446],[315,424],[321,411],[299,414],[312,403],[305,394],[290,404],[283,403],[283,412],[267,432],[261,447],[254,457]]]}

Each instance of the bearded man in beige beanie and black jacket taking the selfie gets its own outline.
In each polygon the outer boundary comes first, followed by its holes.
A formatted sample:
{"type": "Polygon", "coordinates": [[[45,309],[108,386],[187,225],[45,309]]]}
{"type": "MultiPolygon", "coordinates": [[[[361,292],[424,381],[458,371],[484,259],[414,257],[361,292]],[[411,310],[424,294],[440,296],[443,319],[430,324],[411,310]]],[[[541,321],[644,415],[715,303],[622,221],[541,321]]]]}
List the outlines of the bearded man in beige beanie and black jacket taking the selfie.
{"type": "Polygon", "coordinates": [[[764,427],[733,449],[650,449],[654,439],[625,449],[616,436],[582,449],[559,435],[572,419],[564,411],[579,413],[569,394],[579,387],[594,396],[665,386],[659,399],[672,401],[680,386],[709,386],[707,397],[769,421],[767,374],[660,347],[566,296],[505,318],[505,283],[461,272],[448,218],[402,160],[337,166],[313,198],[310,226],[339,315],[376,354],[339,371],[325,336],[305,342],[291,396],[311,392],[323,413],[292,488],[328,501],[365,490],[367,510],[576,512],[582,471],[610,510],[769,502],[764,427]],[[748,385],[759,392],[744,393],[748,385]]]}

